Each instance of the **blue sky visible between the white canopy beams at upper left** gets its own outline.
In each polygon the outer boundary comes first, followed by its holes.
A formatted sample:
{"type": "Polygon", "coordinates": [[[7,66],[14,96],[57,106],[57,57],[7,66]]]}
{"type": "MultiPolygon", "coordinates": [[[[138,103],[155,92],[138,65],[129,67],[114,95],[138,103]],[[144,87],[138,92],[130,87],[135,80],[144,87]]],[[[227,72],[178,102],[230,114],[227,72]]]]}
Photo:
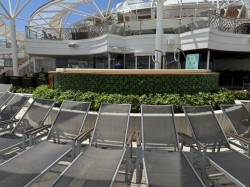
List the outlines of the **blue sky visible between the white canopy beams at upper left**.
{"type": "MultiPolygon", "coordinates": [[[[30,3],[25,7],[25,9],[19,14],[18,18],[24,18],[24,19],[29,19],[30,16],[32,15],[32,13],[38,9],[39,7],[41,7],[42,5],[46,4],[47,2],[49,2],[50,0],[31,0],[30,3]]],[[[16,5],[17,0],[11,0],[12,3],[12,10],[15,9],[15,5],[16,5]]],[[[19,8],[26,2],[26,0],[21,0],[20,4],[19,4],[19,8]]],[[[108,0],[95,0],[96,5],[101,9],[106,9],[108,6],[108,0]]],[[[114,8],[115,5],[119,2],[122,2],[122,0],[113,0],[112,1],[112,5],[111,7],[114,8]]],[[[9,10],[9,5],[8,5],[8,0],[2,0],[2,3],[6,6],[7,10],[9,10]]],[[[92,6],[93,3],[90,3],[92,6]]],[[[87,5],[82,5],[76,8],[79,11],[83,11],[83,12],[87,12],[87,13],[93,13],[93,10],[91,8],[89,8],[89,6],[87,5]]],[[[0,8],[0,12],[4,13],[4,10],[2,8],[0,8]]],[[[5,14],[5,13],[4,13],[5,14]]],[[[73,22],[74,20],[78,20],[80,19],[81,16],[79,15],[71,15],[69,21],[73,22]]],[[[7,25],[9,25],[9,21],[3,19],[7,25]]],[[[16,28],[17,30],[24,32],[25,30],[25,26],[28,25],[27,21],[24,20],[20,20],[17,19],[16,20],[16,28]]]]}

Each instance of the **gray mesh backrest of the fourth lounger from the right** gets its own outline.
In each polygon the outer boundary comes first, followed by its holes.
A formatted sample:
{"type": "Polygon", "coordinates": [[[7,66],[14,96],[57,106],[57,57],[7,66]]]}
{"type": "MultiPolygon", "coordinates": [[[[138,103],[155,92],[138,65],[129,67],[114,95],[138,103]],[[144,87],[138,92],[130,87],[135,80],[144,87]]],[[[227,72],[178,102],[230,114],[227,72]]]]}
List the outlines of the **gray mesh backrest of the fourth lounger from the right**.
{"type": "Polygon", "coordinates": [[[91,146],[125,146],[130,115],[130,104],[102,103],[91,140],[91,146]]]}

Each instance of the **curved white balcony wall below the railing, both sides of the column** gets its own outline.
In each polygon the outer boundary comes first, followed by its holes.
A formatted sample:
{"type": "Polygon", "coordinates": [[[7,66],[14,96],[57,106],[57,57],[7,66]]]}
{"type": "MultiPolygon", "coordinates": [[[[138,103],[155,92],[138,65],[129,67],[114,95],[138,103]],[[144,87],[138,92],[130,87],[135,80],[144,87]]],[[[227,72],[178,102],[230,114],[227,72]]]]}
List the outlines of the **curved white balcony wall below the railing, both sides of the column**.
{"type": "MultiPolygon", "coordinates": [[[[35,55],[88,55],[104,52],[151,54],[155,49],[155,34],[122,37],[113,34],[85,40],[25,40],[26,53],[35,55]],[[77,43],[78,47],[69,47],[77,43]]],[[[250,51],[250,35],[220,32],[205,28],[182,34],[164,34],[164,52],[175,48],[186,50],[212,49],[220,51],[250,51]]]]}

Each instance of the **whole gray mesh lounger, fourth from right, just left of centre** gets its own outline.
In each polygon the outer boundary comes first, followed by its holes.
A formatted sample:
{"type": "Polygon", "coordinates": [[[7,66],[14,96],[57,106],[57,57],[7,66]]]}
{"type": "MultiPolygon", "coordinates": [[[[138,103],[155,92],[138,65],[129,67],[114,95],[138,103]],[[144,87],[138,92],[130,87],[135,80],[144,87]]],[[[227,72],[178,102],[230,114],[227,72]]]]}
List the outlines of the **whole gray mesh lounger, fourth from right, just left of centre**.
{"type": "Polygon", "coordinates": [[[126,152],[130,108],[130,105],[102,104],[90,146],[51,186],[112,186],[126,152]]]}

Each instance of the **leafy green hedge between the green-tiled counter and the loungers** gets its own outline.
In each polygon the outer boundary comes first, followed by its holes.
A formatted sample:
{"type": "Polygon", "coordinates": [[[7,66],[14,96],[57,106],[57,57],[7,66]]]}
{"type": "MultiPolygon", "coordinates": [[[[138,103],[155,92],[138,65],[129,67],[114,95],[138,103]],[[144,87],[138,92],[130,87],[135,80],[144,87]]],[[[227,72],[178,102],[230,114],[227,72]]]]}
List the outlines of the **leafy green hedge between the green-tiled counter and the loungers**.
{"type": "Polygon", "coordinates": [[[100,104],[105,103],[130,103],[132,105],[131,112],[140,112],[141,104],[151,105],[166,105],[172,104],[175,113],[181,113],[182,106],[195,106],[195,105],[212,105],[217,110],[220,104],[234,103],[234,92],[227,89],[220,89],[214,93],[197,93],[190,94],[156,94],[156,95],[121,95],[121,94],[106,94],[67,90],[66,92],[60,90],[49,89],[47,85],[42,85],[36,88],[33,92],[33,98],[46,98],[55,99],[56,106],[60,106],[63,100],[73,101],[88,101],[91,102],[91,111],[98,111],[100,104]]]}

